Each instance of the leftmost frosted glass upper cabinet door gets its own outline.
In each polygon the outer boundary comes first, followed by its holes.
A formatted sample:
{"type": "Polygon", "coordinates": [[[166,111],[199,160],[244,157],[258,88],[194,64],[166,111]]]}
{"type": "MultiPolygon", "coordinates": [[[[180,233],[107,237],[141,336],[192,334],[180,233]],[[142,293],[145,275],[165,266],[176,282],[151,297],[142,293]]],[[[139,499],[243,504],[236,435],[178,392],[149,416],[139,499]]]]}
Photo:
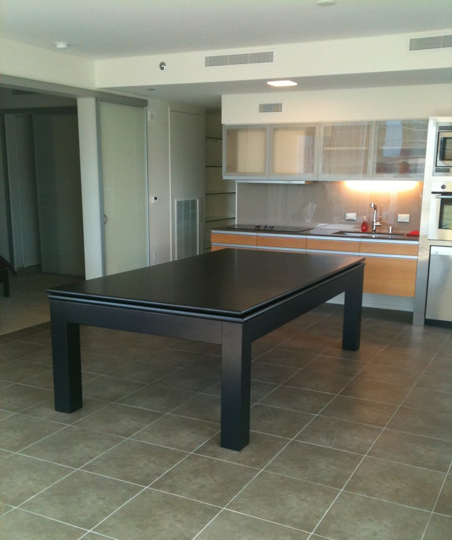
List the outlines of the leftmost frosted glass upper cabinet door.
{"type": "Polygon", "coordinates": [[[265,178],[268,133],[268,125],[224,126],[223,177],[265,178]]]}

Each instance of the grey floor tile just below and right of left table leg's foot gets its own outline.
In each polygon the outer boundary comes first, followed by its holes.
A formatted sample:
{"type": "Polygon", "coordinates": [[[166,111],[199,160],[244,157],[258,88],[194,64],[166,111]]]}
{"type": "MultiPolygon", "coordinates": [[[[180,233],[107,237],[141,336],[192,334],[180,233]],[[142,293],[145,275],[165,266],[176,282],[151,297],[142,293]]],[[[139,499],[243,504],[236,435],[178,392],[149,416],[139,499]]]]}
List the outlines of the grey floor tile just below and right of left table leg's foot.
{"type": "Polygon", "coordinates": [[[119,437],[130,437],[159,419],[163,413],[111,403],[72,424],[77,428],[102,431],[119,437]]]}

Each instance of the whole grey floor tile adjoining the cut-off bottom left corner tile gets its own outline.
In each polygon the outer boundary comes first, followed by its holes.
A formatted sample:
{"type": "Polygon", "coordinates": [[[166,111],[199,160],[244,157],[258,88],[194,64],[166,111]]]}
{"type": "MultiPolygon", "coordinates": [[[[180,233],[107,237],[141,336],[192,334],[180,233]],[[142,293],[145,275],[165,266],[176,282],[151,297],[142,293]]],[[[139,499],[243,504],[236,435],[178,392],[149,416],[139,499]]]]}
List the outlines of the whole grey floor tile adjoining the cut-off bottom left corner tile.
{"type": "Polygon", "coordinates": [[[24,503],[22,508],[91,529],[141,489],[138,485],[75,471],[24,503]]]}

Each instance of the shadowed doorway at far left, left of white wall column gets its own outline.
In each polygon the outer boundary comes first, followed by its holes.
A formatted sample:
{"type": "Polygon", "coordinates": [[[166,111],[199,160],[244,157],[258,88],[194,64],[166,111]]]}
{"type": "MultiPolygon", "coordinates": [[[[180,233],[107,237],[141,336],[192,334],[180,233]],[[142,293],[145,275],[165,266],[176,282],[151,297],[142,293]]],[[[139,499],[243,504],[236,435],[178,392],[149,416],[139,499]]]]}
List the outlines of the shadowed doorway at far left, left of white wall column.
{"type": "Polygon", "coordinates": [[[11,262],[83,276],[77,109],[15,110],[4,118],[11,262]]]}

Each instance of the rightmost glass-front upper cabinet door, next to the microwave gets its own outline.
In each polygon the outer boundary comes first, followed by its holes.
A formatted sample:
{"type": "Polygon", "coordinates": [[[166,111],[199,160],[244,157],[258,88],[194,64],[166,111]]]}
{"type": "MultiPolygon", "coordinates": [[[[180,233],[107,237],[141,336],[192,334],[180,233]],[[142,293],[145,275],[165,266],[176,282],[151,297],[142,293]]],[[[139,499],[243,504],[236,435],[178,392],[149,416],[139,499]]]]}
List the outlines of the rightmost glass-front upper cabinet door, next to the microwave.
{"type": "Polygon", "coordinates": [[[373,177],[423,177],[427,148],[426,120],[375,122],[373,177]]]}

